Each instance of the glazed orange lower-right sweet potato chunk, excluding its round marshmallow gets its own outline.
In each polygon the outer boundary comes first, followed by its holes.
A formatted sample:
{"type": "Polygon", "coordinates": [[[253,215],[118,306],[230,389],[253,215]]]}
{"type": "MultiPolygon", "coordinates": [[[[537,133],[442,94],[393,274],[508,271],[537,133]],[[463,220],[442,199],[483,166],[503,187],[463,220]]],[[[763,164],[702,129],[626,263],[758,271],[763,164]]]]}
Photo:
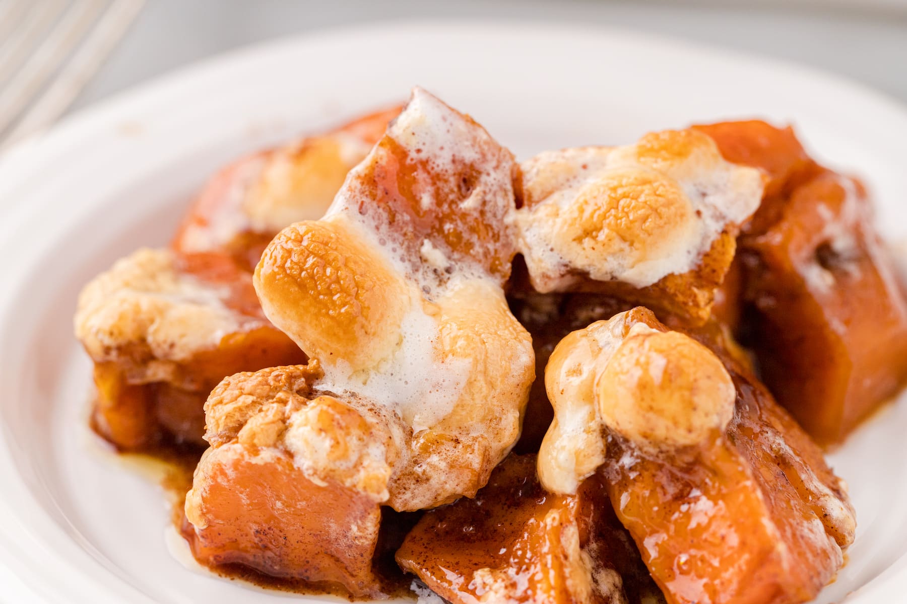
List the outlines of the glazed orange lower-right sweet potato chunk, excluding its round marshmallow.
{"type": "Polygon", "coordinates": [[[651,451],[609,432],[599,475],[670,604],[806,601],[843,563],[853,509],[812,439],[724,350],[723,333],[688,331],[734,381],[727,429],[651,451]]]}

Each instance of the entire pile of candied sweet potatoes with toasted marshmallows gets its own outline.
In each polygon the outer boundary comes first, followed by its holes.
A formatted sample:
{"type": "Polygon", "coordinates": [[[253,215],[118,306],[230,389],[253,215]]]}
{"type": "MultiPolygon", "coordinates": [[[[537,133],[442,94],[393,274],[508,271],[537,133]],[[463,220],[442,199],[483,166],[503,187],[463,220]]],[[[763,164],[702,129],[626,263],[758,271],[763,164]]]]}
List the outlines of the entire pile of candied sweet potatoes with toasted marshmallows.
{"type": "Polygon", "coordinates": [[[93,426],[206,447],[180,528],[213,569],[353,599],[803,602],[855,531],[820,446],[907,379],[871,220],[791,129],[520,164],[417,88],[240,159],[169,247],[85,286],[93,426]]]}

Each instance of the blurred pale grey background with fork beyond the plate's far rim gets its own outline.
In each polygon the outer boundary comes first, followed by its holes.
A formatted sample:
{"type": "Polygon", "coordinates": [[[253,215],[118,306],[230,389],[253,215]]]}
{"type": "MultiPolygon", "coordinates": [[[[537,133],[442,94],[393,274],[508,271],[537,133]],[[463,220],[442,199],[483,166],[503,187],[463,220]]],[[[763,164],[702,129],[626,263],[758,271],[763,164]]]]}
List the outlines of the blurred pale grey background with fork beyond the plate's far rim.
{"type": "Polygon", "coordinates": [[[0,149],[213,54],[414,18],[626,27],[810,64],[907,101],[907,0],[0,0],[0,149]]]}

